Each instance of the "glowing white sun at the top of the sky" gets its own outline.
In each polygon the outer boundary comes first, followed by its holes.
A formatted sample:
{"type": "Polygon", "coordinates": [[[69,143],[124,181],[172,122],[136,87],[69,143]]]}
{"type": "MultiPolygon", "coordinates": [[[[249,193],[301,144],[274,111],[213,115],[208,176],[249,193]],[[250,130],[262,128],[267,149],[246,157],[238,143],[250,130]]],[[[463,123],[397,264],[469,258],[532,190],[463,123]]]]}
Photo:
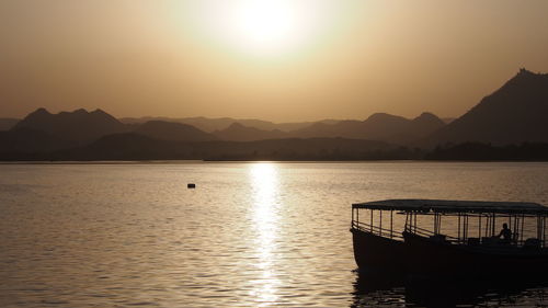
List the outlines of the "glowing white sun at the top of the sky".
{"type": "Polygon", "coordinates": [[[240,52],[283,54],[312,43],[327,25],[322,0],[224,0],[202,3],[208,35],[240,52]]]}

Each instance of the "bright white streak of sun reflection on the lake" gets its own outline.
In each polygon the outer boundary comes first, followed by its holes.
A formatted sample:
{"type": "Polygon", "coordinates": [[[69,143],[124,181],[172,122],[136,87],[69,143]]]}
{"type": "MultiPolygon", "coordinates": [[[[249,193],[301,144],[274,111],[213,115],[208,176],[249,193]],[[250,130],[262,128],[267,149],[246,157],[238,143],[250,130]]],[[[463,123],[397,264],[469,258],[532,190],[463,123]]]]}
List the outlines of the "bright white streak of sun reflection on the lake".
{"type": "Polygon", "coordinates": [[[256,270],[260,276],[252,282],[250,295],[261,304],[277,301],[277,288],[281,284],[275,275],[275,248],[277,243],[279,206],[279,181],[274,163],[259,162],[250,168],[250,181],[253,199],[253,223],[255,229],[256,270]]]}

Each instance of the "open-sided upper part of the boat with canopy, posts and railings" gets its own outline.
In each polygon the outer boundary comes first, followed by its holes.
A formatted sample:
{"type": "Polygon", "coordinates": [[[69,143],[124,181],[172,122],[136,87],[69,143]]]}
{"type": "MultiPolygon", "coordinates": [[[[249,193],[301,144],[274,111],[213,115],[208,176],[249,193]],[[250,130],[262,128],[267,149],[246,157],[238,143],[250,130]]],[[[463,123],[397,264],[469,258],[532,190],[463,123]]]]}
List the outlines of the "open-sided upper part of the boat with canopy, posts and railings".
{"type": "Polygon", "coordinates": [[[512,246],[548,250],[547,218],[544,206],[526,203],[396,199],[352,205],[352,228],[372,235],[401,239],[403,231],[432,241],[486,248],[512,246]],[[395,214],[404,215],[403,226],[402,219],[395,219],[395,214]],[[432,218],[433,225],[427,218],[432,218]],[[445,225],[444,233],[442,225],[447,219],[452,224],[445,225]],[[500,224],[512,231],[510,239],[507,235],[501,238],[500,224]]]}

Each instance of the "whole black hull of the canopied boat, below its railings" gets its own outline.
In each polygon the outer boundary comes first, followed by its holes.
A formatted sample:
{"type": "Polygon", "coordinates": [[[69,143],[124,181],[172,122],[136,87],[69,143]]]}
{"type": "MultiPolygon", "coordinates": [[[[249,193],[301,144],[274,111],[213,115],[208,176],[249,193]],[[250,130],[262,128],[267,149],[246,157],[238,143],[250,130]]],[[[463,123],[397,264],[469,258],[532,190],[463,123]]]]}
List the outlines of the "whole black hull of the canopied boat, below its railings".
{"type": "Polygon", "coordinates": [[[398,241],[351,229],[361,272],[398,273],[412,278],[535,277],[548,274],[545,250],[490,249],[436,242],[404,232],[398,241]]]}

